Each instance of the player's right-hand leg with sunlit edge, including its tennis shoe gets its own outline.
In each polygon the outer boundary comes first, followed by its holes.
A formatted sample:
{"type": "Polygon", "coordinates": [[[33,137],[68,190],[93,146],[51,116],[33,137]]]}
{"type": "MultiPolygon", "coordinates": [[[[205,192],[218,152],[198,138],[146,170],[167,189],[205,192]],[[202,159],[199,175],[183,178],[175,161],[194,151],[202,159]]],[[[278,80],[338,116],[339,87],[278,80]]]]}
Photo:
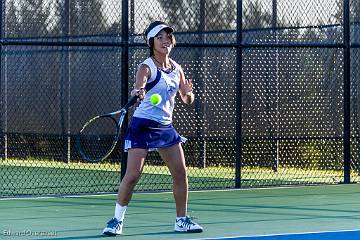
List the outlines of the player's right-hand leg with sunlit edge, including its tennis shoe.
{"type": "Polygon", "coordinates": [[[175,231],[202,232],[203,228],[187,216],[188,179],[184,152],[181,144],[159,149],[159,154],[169,168],[173,178],[173,193],[176,204],[175,231]]]}

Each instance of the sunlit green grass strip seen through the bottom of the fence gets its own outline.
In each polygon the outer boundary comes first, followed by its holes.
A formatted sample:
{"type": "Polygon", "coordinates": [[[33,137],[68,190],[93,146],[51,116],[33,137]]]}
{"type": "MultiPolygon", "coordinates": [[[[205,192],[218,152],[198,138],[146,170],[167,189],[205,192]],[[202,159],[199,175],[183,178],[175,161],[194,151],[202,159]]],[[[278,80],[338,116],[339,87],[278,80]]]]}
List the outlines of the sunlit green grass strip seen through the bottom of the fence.
{"type": "MultiPolygon", "coordinates": [[[[0,196],[77,194],[115,192],[120,182],[120,167],[114,163],[59,162],[39,159],[0,161],[0,196]]],[[[352,173],[358,176],[355,172],[352,173]]],[[[234,188],[232,167],[188,167],[190,189],[234,188]]],[[[343,179],[342,171],[243,167],[242,187],[276,185],[335,184],[343,179]]],[[[146,165],[136,191],[171,190],[172,179],[166,166],[146,165]]]]}

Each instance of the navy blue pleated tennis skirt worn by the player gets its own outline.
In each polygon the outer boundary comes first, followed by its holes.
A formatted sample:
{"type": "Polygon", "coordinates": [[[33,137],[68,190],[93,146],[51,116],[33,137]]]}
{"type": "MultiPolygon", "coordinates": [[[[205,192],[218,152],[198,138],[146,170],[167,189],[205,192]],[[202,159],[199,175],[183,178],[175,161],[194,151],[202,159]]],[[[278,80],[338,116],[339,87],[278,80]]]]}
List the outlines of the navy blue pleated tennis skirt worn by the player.
{"type": "Polygon", "coordinates": [[[133,117],[125,135],[124,150],[127,152],[130,148],[142,148],[156,151],[186,140],[172,124],[164,125],[154,120],[133,117]]]}

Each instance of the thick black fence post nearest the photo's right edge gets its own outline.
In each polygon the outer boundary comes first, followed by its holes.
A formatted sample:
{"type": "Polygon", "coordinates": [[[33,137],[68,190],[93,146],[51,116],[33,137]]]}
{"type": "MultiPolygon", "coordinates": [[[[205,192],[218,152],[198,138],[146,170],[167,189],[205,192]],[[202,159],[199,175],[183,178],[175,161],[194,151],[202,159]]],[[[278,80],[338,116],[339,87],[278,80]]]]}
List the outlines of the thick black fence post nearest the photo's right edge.
{"type": "Polygon", "coordinates": [[[344,0],[344,183],[350,183],[351,163],[351,75],[350,75],[350,0],[344,0]]]}

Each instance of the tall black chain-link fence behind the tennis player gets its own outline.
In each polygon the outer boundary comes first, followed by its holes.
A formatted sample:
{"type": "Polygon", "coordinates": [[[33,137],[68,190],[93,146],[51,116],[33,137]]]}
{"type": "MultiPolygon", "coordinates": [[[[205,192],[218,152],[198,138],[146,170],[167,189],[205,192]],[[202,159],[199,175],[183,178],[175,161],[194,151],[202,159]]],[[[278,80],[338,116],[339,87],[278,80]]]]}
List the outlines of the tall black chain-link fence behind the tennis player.
{"type": "MultiPolygon", "coordinates": [[[[1,2],[0,196],[114,192],[121,144],[79,156],[90,117],[118,110],[149,54],[153,20],[194,79],[177,99],[190,189],[360,179],[360,3],[349,0],[5,0],[1,2]]],[[[137,191],[170,190],[149,154],[137,191]]]]}

